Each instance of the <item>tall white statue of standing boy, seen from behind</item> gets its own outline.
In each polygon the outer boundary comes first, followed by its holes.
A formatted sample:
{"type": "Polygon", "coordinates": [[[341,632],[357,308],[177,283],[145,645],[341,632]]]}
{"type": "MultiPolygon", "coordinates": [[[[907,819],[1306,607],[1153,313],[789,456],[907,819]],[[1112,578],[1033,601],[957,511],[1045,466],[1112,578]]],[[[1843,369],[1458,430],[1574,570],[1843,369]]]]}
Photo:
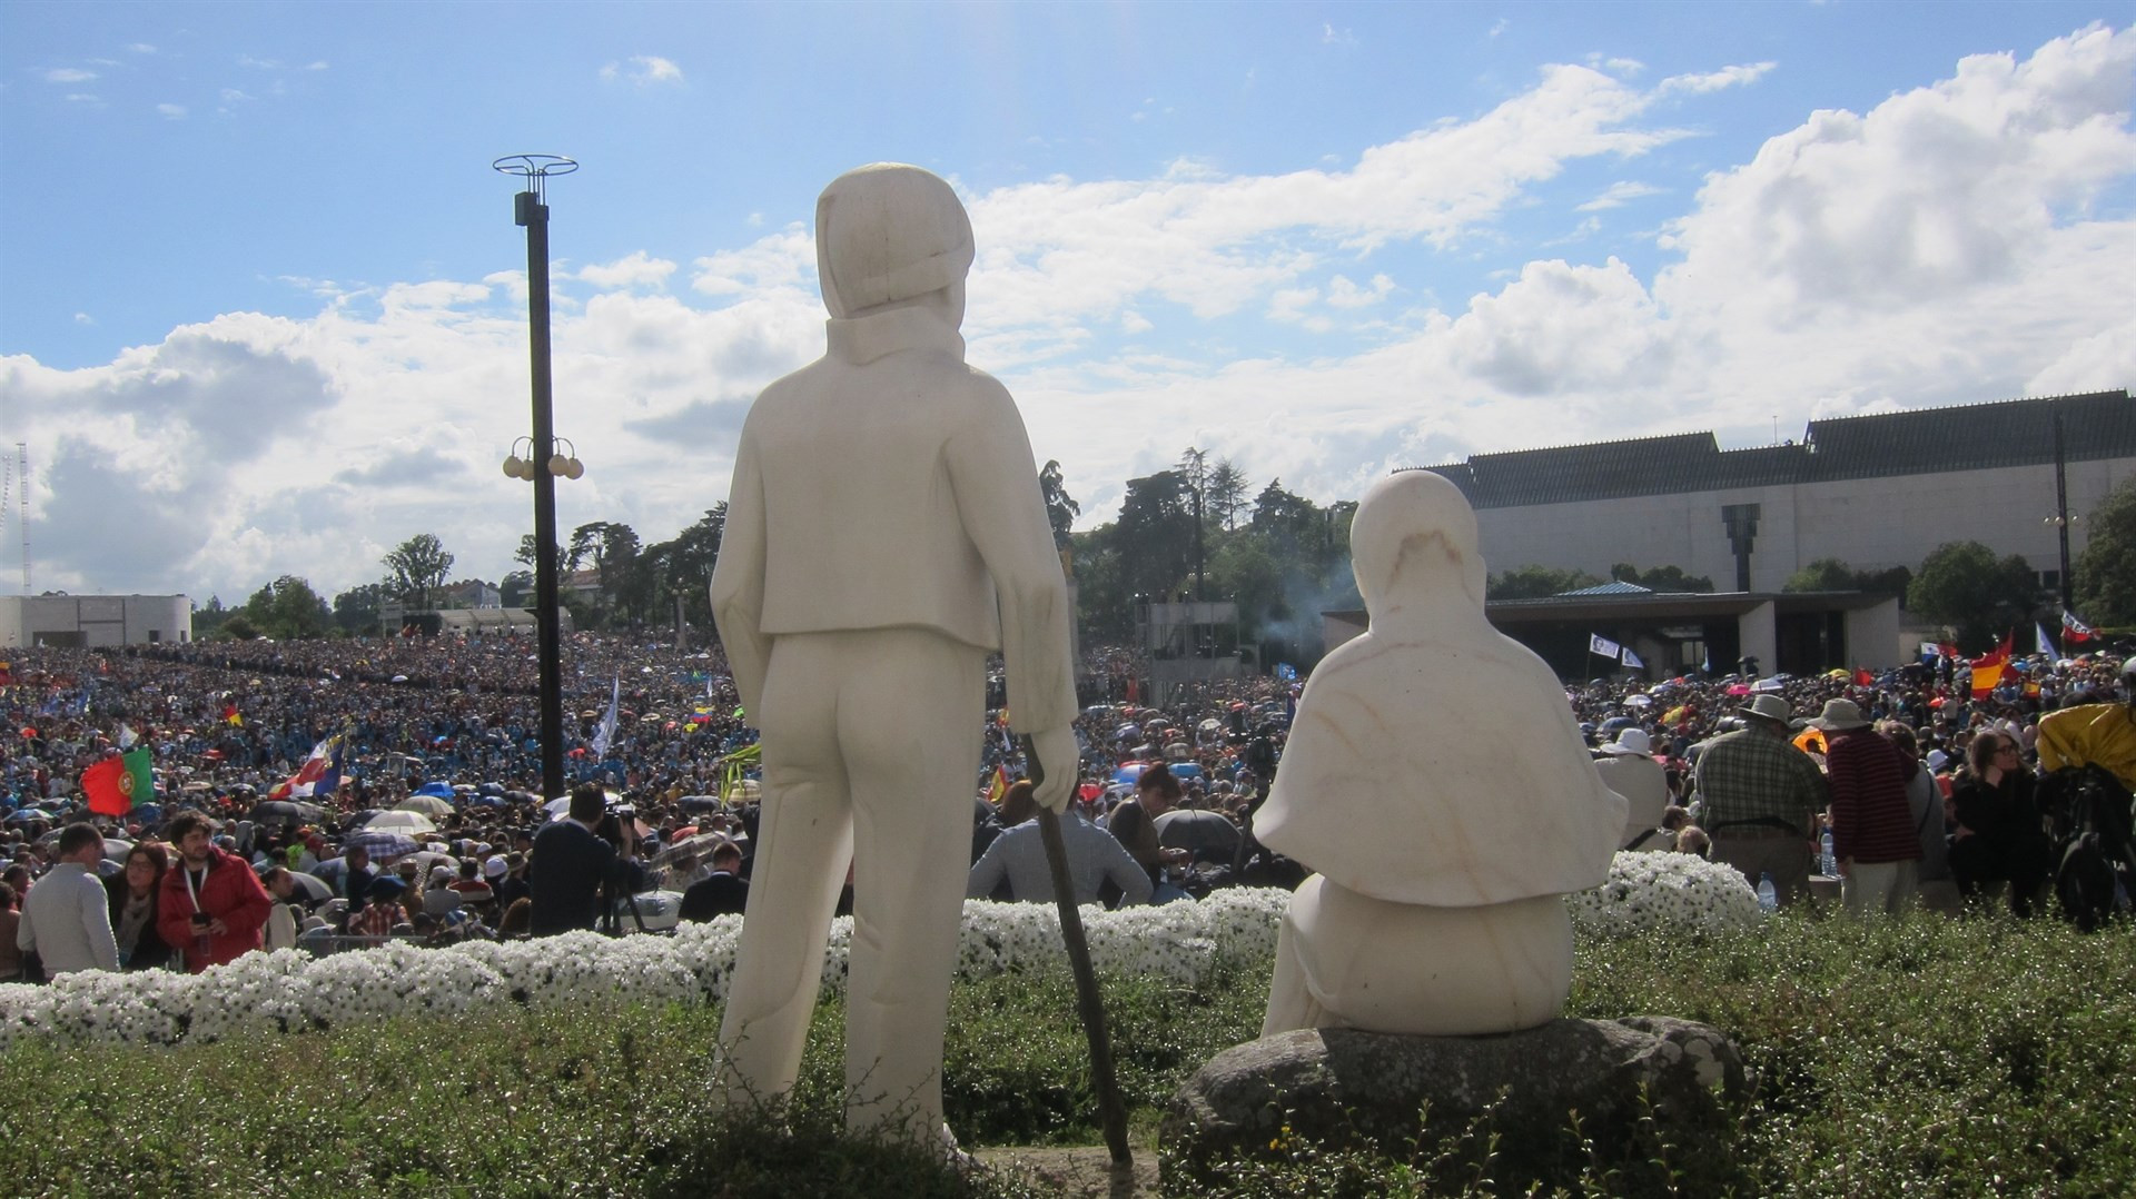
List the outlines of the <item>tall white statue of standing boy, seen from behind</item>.
{"type": "Polygon", "coordinates": [[[848,171],[816,201],[829,351],[741,427],[711,609],[763,731],[765,806],[716,1086],[784,1096],[852,861],[846,1122],[931,1141],[987,654],[1045,767],[1077,774],[1068,590],[1008,391],[963,363],[972,222],[940,177],[848,171]]]}

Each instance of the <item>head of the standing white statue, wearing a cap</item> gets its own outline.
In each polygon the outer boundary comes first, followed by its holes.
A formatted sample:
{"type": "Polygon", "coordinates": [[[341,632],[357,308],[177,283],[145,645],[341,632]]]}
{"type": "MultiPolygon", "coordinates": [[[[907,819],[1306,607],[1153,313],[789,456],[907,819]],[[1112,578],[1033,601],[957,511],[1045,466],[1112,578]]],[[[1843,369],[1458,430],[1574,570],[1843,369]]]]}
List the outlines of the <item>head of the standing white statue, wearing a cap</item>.
{"type": "Polygon", "coordinates": [[[846,171],[816,197],[816,276],[831,316],[944,293],[963,321],[972,218],[938,175],[904,162],[846,171]]]}

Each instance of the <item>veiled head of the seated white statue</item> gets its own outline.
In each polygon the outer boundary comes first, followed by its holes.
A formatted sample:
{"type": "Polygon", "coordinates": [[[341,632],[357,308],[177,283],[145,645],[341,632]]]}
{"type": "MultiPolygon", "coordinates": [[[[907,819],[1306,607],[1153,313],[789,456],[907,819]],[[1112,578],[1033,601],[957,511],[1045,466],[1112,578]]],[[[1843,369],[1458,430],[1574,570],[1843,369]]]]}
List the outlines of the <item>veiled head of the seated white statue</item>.
{"type": "Polygon", "coordinates": [[[1418,620],[1459,596],[1482,607],[1476,511],[1431,470],[1397,470],[1365,492],[1350,521],[1350,566],[1373,624],[1418,620]]]}

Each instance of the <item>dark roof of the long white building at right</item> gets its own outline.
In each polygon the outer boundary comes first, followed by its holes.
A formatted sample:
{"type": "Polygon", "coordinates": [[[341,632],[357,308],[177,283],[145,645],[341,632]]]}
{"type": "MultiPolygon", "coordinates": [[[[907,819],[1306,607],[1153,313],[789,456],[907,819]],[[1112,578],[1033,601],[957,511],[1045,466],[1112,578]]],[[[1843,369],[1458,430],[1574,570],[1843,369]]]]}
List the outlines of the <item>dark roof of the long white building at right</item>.
{"type": "Polygon", "coordinates": [[[1431,466],[1472,507],[1583,504],[1625,496],[1726,492],[1839,479],[2048,466],[2055,417],[2063,457],[2136,457],[2136,404],[2123,391],[2001,400],[1809,421],[1801,442],[1719,449],[1711,432],[1478,453],[1431,466]]]}

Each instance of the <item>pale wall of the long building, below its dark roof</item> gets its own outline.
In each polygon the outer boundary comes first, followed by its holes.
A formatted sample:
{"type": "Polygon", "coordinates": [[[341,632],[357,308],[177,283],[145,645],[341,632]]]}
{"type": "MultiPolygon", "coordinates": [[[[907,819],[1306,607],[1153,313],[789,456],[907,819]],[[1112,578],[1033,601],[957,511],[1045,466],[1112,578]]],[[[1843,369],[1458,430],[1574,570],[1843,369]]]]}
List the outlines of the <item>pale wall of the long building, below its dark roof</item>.
{"type": "MultiPolygon", "coordinates": [[[[2085,549],[2085,517],[2136,477],[2136,460],[2072,462],[2066,477],[2074,562],[2085,549]]],[[[2033,571],[2059,569],[2055,526],[2044,524],[2055,513],[2053,464],[1480,509],[1476,526],[1491,571],[1538,564],[1606,577],[1617,562],[1643,571],[1683,566],[1726,592],[1734,590],[1734,551],[1722,528],[1724,504],[1762,509],[1752,549],[1754,592],[1781,590],[1788,575],[1818,558],[1860,571],[1918,569],[1946,541],[1980,541],[1997,556],[2023,554],[2033,571]]]]}

